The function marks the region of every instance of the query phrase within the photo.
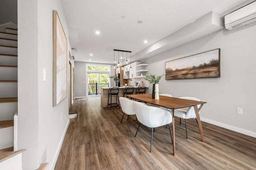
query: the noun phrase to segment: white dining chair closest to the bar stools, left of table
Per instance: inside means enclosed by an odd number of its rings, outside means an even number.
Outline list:
[[[131,121],[131,115],[135,115],[135,111],[134,111],[134,102],[136,102],[135,100],[130,100],[129,98],[124,98],[124,97],[120,97],[120,105],[121,105],[121,109],[124,112],[124,114],[127,114],[129,116],[129,123],[128,123],[128,129],[127,131],[129,131],[129,127],[130,127],[130,121]],[[124,118],[124,114],[123,117],[121,119],[122,120]]]

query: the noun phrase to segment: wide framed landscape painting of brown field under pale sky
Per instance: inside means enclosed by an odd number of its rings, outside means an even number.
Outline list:
[[[220,49],[168,61],[165,79],[220,77]]]

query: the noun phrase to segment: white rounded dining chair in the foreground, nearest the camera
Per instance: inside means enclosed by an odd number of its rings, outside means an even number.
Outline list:
[[[172,123],[172,115],[169,111],[158,107],[148,106],[147,104],[136,102],[134,103],[134,110],[140,124],[151,128],[151,141],[150,141],[150,152],[152,151],[152,140],[153,140],[153,129],[163,125],[168,125],[172,140],[172,132],[170,129],[170,123]],[[135,137],[140,128],[140,124],[136,131]]]

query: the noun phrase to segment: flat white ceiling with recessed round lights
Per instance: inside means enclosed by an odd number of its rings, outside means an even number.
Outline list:
[[[111,64],[113,49],[132,51],[135,55],[210,11],[221,14],[244,1],[62,0],[76,61]],[[95,34],[96,30],[100,35]],[[117,61],[118,53],[115,54]],[[140,59],[136,57],[132,61]]]

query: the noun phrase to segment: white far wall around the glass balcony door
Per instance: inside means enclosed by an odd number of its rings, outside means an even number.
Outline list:
[[[104,63],[86,63],[86,62],[75,62],[75,77],[74,77],[74,81],[75,81],[75,98],[84,98],[86,97],[86,93],[88,93],[86,91],[86,83],[87,82],[87,78],[86,78],[86,64],[104,64]],[[110,64],[106,64],[106,65],[110,65]],[[110,67],[110,74],[112,76],[115,75],[115,70],[112,68],[112,65]],[[112,81],[110,83],[113,83]],[[112,86],[112,84],[110,85]]]

